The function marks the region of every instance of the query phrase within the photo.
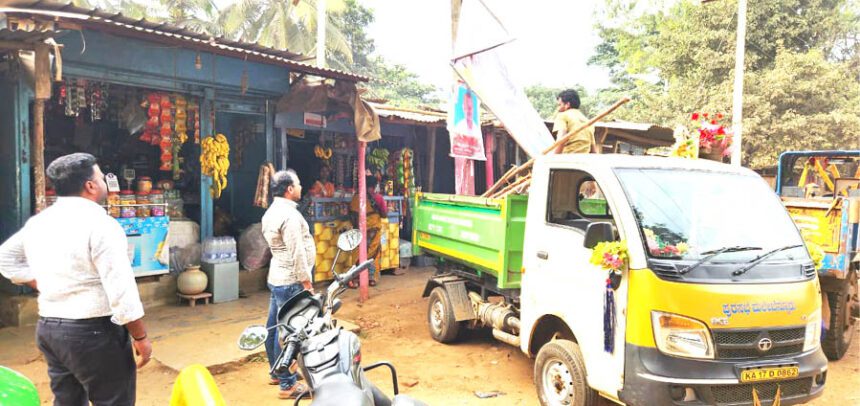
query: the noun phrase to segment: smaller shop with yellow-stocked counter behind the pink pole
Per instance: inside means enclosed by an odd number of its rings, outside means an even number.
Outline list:
[[[358,259],[356,252],[336,258],[340,233],[358,228],[359,154],[352,121],[336,116],[332,120],[316,113],[284,113],[277,121],[285,134],[288,166],[305,185],[300,209],[313,228],[317,244],[314,280],[331,280],[335,260],[334,269],[340,273]],[[381,211],[373,197],[378,194],[386,213],[368,215],[367,238],[368,255],[375,259],[376,269],[388,271],[408,265],[401,261],[400,238],[409,232],[409,198],[418,190],[416,176],[421,175],[416,169],[421,158],[415,148],[423,147],[425,131],[388,122],[381,116],[380,122],[382,138],[366,145],[366,176],[377,184],[367,201],[372,211]]]

